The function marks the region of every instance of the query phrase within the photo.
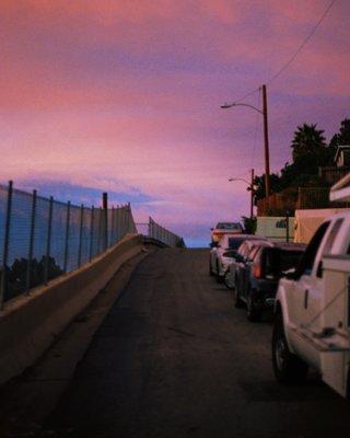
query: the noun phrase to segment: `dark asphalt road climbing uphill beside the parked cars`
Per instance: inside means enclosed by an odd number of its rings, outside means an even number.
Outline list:
[[[208,251],[141,262],[45,428],[60,437],[332,437],[350,404],[317,379],[281,387],[271,322],[249,323]]]

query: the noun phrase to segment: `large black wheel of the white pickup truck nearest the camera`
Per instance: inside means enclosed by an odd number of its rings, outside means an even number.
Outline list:
[[[290,351],[281,315],[277,318],[273,326],[272,366],[275,377],[280,383],[300,383],[306,379],[308,367],[303,360]]]

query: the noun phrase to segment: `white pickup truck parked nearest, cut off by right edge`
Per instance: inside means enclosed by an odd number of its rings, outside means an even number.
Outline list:
[[[278,381],[304,379],[308,367],[350,397],[350,211],[315,232],[301,263],[279,283],[272,365]]]

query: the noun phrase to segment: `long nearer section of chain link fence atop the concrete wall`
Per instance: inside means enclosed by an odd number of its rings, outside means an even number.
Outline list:
[[[0,185],[0,309],[136,232],[129,204],[88,208]]]

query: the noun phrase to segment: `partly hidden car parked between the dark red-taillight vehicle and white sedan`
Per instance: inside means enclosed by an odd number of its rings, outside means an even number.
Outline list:
[[[241,299],[236,296],[237,291],[237,281],[238,281],[238,272],[245,270],[246,265],[252,264],[253,255],[257,249],[257,245],[266,244],[272,245],[267,239],[250,235],[248,239],[245,239],[237,249],[236,256],[232,261],[229,266],[229,269],[224,274],[224,283],[230,289],[234,289],[235,295],[235,306],[241,307]]]

